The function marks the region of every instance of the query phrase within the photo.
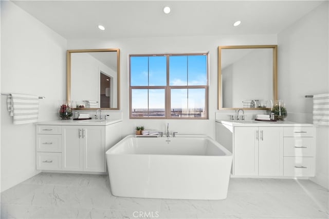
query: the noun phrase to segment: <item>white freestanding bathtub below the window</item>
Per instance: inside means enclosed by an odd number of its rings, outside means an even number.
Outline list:
[[[106,161],[115,196],[227,197],[232,154],[208,136],[129,135],[106,152]]]

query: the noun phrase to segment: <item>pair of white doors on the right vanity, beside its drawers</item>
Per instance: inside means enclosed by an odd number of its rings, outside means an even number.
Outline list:
[[[233,174],[283,174],[282,127],[234,127]]]

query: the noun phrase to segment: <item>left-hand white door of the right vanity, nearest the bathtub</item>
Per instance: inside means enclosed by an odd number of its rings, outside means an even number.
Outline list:
[[[234,127],[234,175],[258,175],[258,127]]]

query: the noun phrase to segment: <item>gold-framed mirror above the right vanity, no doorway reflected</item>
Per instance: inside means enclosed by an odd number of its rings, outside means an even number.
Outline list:
[[[218,109],[268,110],[278,99],[278,46],[218,46]]]

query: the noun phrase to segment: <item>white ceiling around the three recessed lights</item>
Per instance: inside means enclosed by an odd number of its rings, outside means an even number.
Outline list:
[[[276,34],[324,1],[13,1],[68,40]],[[171,13],[162,9],[171,7]],[[233,27],[241,20],[242,24]],[[97,26],[105,26],[101,31]]]

